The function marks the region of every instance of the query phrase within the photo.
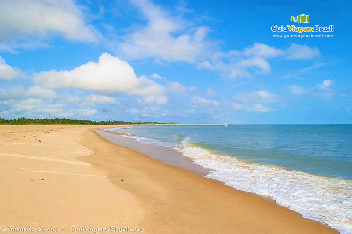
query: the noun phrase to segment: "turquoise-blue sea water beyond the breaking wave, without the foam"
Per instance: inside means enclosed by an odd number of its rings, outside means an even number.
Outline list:
[[[239,159],[352,179],[352,125],[136,126],[124,132],[166,146],[189,137],[197,146]]]

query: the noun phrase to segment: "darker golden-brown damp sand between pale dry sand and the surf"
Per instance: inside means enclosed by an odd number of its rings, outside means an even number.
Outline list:
[[[87,132],[86,139],[96,135]],[[104,152],[100,154],[103,157],[81,159],[106,171],[112,183],[137,198],[146,210],[140,225],[150,233],[338,233],[273,201],[165,165],[170,162],[167,158],[163,163],[116,145],[131,146],[131,139],[119,136],[114,138],[114,144],[99,137],[89,146]],[[138,145],[137,150],[150,153],[141,147]]]

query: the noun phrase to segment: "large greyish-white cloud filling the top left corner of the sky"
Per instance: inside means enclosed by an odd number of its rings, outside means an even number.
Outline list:
[[[49,35],[88,42],[100,37],[72,0],[2,1],[0,22],[0,48],[10,52],[12,47],[40,46],[38,39]]]

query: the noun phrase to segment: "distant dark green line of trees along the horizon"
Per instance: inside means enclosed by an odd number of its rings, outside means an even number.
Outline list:
[[[149,122],[149,121],[94,121],[81,119],[2,119],[0,118],[0,125],[25,125],[25,124],[82,124],[82,125],[132,125],[132,124],[177,124],[177,122]]]

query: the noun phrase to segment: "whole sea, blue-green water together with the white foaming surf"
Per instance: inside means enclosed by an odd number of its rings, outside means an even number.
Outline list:
[[[227,186],[270,196],[352,233],[352,125],[150,125],[114,128],[172,148]]]

